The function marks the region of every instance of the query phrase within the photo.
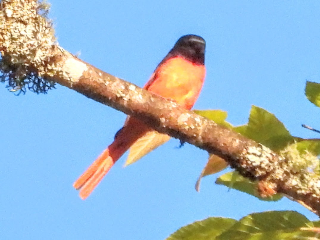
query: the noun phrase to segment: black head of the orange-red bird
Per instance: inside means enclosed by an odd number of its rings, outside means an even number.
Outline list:
[[[185,35],[179,38],[169,54],[181,56],[193,63],[204,65],[205,41],[197,35]],[[168,54],[168,55],[169,55]]]

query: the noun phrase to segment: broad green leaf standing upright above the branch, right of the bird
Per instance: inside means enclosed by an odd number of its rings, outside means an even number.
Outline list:
[[[293,142],[293,137],[275,115],[263,108],[252,106],[245,135],[274,151]]]

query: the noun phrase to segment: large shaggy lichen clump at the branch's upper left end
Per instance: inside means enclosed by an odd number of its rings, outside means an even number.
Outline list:
[[[54,82],[43,78],[57,47],[49,5],[38,1],[2,0],[0,4],[0,81],[10,91],[46,93]]]

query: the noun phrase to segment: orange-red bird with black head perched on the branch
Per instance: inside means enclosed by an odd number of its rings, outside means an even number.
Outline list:
[[[201,36],[181,36],[158,64],[144,89],[165,99],[173,100],[186,109],[195,104],[204,84],[206,42]],[[152,139],[150,141],[150,139]],[[130,162],[137,161],[170,137],[153,130],[136,117],[128,116],[114,141],[74,182],[81,199],[86,199],[116,161],[130,148]],[[148,141],[149,140],[149,141]],[[143,144],[147,141],[147,144]],[[141,144],[142,143],[142,144]],[[137,151],[132,149],[139,148]]]

